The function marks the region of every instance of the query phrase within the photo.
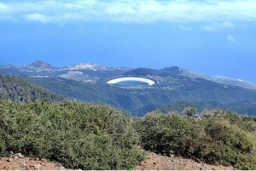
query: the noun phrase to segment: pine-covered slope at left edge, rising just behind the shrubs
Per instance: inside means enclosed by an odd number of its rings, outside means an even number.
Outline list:
[[[0,74],[0,98],[21,102],[47,100],[50,102],[64,100],[60,95],[53,94],[44,88],[30,83],[20,77],[3,76]]]

